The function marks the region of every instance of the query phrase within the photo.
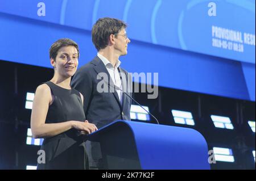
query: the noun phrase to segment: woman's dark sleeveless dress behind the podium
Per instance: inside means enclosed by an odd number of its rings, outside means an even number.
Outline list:
[[[54,96],[53,103],[48,109],[46,123],[85,121],[79,91],[73,88],[64,89],[50,81],[46,84]],[[85,143],[79,135],[80,132],[72,128],[56,136],[44,138],[41,150],[44,150],[46,159],[43,163],[43,154],[39,155],[38,169],[88,169]]]

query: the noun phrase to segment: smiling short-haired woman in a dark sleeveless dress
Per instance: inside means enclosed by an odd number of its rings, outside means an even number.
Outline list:
[[[78,65],[78,45],[70,39],[57,40],[49,55],[54,75],[36,89],[31,113],[33,137],[44,138],[41,150],[46,157],[45,162],[38,162],[38,169],[87,169],[85,144],[79,134],[97,128],[85,120],[84,98],[70,86]]]

